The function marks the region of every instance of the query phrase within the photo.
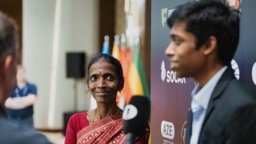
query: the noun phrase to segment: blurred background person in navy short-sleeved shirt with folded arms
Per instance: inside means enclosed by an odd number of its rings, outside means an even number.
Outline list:
[[[36,85],[28,83],[26,70],[18,65],[17,84],[13,89],[11,97],[5,101],[11,121],[20,127],[30,127],[34,129],[33,104],[36,102]]]

